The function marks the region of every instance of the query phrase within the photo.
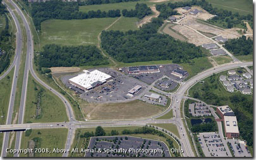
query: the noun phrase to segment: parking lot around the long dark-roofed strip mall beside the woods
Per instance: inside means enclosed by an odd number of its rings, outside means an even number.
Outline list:
[[[145,73],[145,74],[143,74],[143,73],[142,74],[128,74],[128,71],[127,71],[128,67],[123,67],[121,69],[125,74],[129,75],[130,77],[138,79],[147,84],[154,83],[154,81],[156,81],[157,79],[161,78],[164,75],[170,77],[171,79],[174,79],[175,81],[182,81],[183,79],[185,79],[185,77],[180,78],[180,77],[177,77],[177,76],[174,76],[173,74],[171,74],[171,71],[173,71],[174,69],[176,69],[178,67],[181,67],[178,64],[157,65],[157,67],[160,72]]]

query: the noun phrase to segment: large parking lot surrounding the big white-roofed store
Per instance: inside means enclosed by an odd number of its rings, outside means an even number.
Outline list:
[[[147,84],[138,81],[137,79],[126,76],[125,74],[121,74],[118,71],[114,71],[113,69],[101,68],[98,70],[109,74],[110,76],[112,76],[112,79],[111,81],[103,84],[102,86],[99,86],[90,91],[82,91],[81,89],[76,88],[75,86],[72,86],[70,83],[68,83],[68,79],[76,76],[77,74],[72,76],[63,76],[61,77],[61,81],[63,81],[63,83],[68,86],[68,88],[81,93],[80,98],[83,98],[88,102],[96,103],[122,101],[131,98],[134,99],[135,97],[138,97],[145,88],[147,88]],[[136,85],[142,86],[142,89],[140,89],[140,91],[138,91],[138,93],[134,94],[133,96],[128,96],[128,91]]]

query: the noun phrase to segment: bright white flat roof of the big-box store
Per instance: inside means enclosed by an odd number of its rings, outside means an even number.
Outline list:
[[[111,77],[108,74],[98,70],[94,70],[92,72],[83,70],[83,72],[84,73],[79,74],[78,76],[75,76],[69,80],[73,83],[82,86],[83,88],[90,89],[94,87],[92,86],[92,84],[97,83],[98,81],[104,83],[106,82],[106,79],[109,79]]]

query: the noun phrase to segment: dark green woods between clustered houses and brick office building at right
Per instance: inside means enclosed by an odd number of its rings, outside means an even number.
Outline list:
[[[195,86],[194,86],[195,87]],[[192,88],[193,89],[193,88]],[[229,105],[235,112],[241,137],[247,140],[248,146],[253,146],[253,96],[238,93],[223,92],[219,76],[205,79],[205,83],[192,90],[193,98],[205,101],[210,105]]]

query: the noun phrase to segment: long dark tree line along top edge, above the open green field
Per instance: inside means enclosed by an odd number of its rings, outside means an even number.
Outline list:
[[[113,1],[114,2],[114,1]],[[120,1],[121,2],[121,1]],[[45,20],[83,20],[88,18],[113,18],[121,16],[119,9],[111,9],[109,11],[88,11],[87,13],[79,11],[79,6],[85,2],[63,2],[61,0],[46,1],[45,3],[32,3],[31,14],[34,21],[35,28],[40,30],[40,23]],[[123,11],[124,16],[143,18],[151,13],[151,9],[147,4],[136,5],[135,10]]]

